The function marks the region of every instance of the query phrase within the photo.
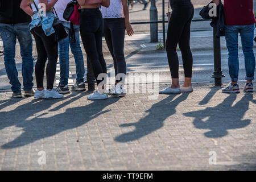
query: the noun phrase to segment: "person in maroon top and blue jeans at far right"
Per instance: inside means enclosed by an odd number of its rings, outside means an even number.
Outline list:
[[[220,0],[214,0],[218,5]],[[239,93],[238,72],[238,34],[241,36],[243,55],[245,56],[246,84],[245,92],[253,92],[253,80],[255,71],[255,56],[253,52],[255,16],[253,12],[253,0],[224,0],[225,11],[225,38],[228,47],[229,75],[231,82],[222,89],[225,93]]]

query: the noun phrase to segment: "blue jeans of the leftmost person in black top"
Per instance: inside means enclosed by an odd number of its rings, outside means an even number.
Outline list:
[[[18,71],[15,64],[16,39],[20,44],[22,56],[22,76],[24,90],[33,87],[34,57],[32,56],[32,36],[28,23],[4,24],[0,23],[0,34],[3,39],[3,54],[5,55],[5,69],[10,80],[11,90],[20,92],[21,84],[18,80]]]

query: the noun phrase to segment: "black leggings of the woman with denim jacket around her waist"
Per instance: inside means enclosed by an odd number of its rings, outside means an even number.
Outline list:
[[[52,89],[58,59],[58,43],[55,41],[55,34],[46,36],[42,27],[33,28],[31,33],[34,35],[36,50],[38,51],[38,60],[35,65],[36,86],[37,88],[44,87],[44,68],[48,59],[46,67],[47,89]]]

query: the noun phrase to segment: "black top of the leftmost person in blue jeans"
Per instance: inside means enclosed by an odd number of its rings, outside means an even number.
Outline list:
[[[16,24],[31,22],[31,17],[20,9],[22,0],[0,0],[0,23]]]

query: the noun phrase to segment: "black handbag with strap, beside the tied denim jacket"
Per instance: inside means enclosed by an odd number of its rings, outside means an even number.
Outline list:
[[[34,3],[34,6],[36,8],[36,11],[39,12],[38,6],[36,6],[36,3],[34,1],[33,1],[33,3]],[[55,11],[55,9],[54,9],[54,11]],[[56,11],[55,11],[55,14],[56,14],[57,19],[59,19]],[[40,16],[40,18],[41,18],[41,20],[43,20],[42,16]],[[52,28],[55,31],[55,41],[56,42],[60,42],[61,40],[67,38],[68,34],[67,34],[67,32],[66,32],[66,30],[65,30],[65,28],[64,28],[62,23],[58,23],[58,24],[52,25]]]

